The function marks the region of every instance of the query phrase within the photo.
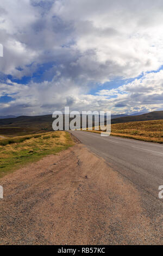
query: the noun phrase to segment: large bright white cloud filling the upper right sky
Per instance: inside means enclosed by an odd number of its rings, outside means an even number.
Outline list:
[[[74,22],[74,47],[83,53],[76,63],[91,78],[96,71],[96,80],[104,82],[162,65],[162,10],[160,1],[70,0],[55,1],[53,14]]]

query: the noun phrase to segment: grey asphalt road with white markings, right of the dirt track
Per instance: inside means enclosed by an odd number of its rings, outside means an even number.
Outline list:
[[[116,172],[140,191],[150,213],[162,213],[163,145],[120,137],[102,137],[98,133],[71,131],[93,153],[103,157]]]

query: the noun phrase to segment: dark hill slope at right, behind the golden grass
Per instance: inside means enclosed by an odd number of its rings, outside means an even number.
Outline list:
[[[128,123],[135,121],[149,121],[149,120],[161,120],[163,119],[163,111],[154,111],[141,115],[128,115],[127,117],[114,118],[111,123]]]

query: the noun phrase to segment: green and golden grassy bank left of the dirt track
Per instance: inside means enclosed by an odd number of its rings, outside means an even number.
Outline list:
[[[73,144],[70,134],[64,131],[1,139],[0,178],[28,162],[56,154]]]

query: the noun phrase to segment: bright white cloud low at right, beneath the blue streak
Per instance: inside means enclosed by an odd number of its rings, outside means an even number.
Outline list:
[[[163,109],[163,70],[146,74],[117,89],[100,90],[97,95],[107,99],[110,95],[116,96],[110,101],[111,108],[128,113]]]

